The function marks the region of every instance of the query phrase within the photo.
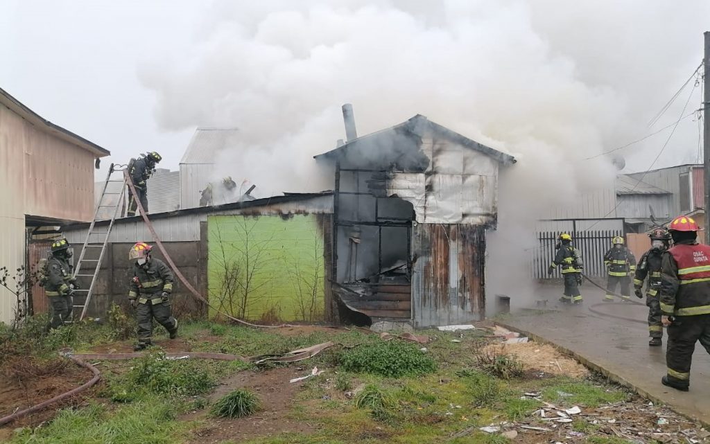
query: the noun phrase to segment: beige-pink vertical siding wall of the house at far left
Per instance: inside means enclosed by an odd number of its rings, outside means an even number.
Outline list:
[[[0,267],[13,275],[25,265],[25,215],[91,220],[93,168],[91,152],[0,105]],[[15,296],[0,287],[0,322],[11,321],[15,308]]]

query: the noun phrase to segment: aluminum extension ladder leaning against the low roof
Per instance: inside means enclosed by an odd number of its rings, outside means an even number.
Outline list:
[[[111,175],[114,173],[121,173],[121,179],[112,179]],[[109,167],[109,174],[107,174],[106,177],[106,182],[104,182],[104,189],[102,190],[101,197],[97,203],[96,211],[94,211],[94,220],[89,226],[87,237],[84,240],[84,245],[82,245],[82,252],[79,255],[79,259],[74,267],[74,277],[82,283],[80,289],[74,290],[74,311],[81,309],[79,321],[86,316],[87,309],[89,308],[89,302],[91,301],[92,294],[94,294],[94,287],[96,286],[97,278],[99,276],[99,270],[101,270],[101,263],[102,260],[104,260],[106,248],[109,243],[111,228],[114,228],[114,221],[116,221],[116,218],[119,217],[119,213],[122,213],[121,210],[125,207],[124,203],[126,203],[127,177],[128,175],[124,174],[124,170],[117,170],[114,168],[114,164],[111,164]],[[121,190],[119,192],[109,191],[109,189],[115,190],[115,187],[109,187],[109,184],[114,183],[121,184]],[[114,198],[115,202],[109,199],[111,196],[116,196]],[[102,216],[104,215],[103,209],[112,209],[112,211],[109,210],[110,217]],[[121,214],[121,216],[124,216],[124,214]],[[109,221],[109,223],[108,225],[102,223],[97,229],[96,223],[102,221]],[[99,248],[101,250],[98,251],[97,255],[96,250]],[[89,284],[87,284],[87,282],[89,282]],[[78,304],[77,299],[80,301]],[[72,316],[72,319],[75,319],[75,316]]]

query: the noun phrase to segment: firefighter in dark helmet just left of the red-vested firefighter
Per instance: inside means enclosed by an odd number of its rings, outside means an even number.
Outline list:
[[[670,248],[670,234],[664,228],[654,228],[648,235],[651,238],[651,249],[643,253],[638,261],[633,279],[634,294],[643,298],[643,281],[648,277],[646,285],[646,306],[648,306],[648,335],[651,340],[648,345],[657,347],[662,344],[663,325],[661,323],[660,295],[661,257]]]

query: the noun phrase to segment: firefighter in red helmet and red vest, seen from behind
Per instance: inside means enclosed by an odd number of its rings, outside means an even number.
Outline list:
[[[661,322],[668,328],[667,375],[663,385],[690,386],[695,343],[710,353],[710,246],[697,243],[698,224],[678,216],[668,226],[673,247],[661,260]]]

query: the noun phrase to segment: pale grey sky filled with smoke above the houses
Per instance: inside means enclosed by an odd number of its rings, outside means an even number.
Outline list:
[[[4,0],[0,86],[105,163],[157,150],[175,170],[195,127],[237,126],[219,174],[275,192],[312,177],[346,101],[361,134],[422,113],[559,170],[679,116],[689,89],[646,126],[700,62],[709,17],[701,0]],[[654,167],[695,160],[692,120]],[[629,170],[668,134],[623,150]]]

